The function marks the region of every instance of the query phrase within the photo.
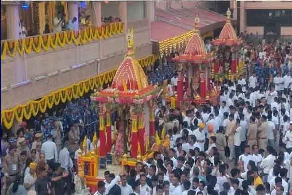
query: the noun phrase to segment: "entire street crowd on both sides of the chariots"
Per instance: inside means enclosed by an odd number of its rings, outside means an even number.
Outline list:
[[[245,45],[247,77],[222,83],[217,105],[171,108],[156,99],[155,125],[170,148],[155,146],[154,156],[105,171],[94,195],[288,195],[292,189],[291,43]],[[173,64],[147,74],[149,83],[169,80]],[[167,86],[168,87],[168,86]],[[87,147],[98,129],[92,102],[80,99],[66,109],[39,116],[28,129],[1,137],[2,193],[70,195],[80,140]],[[91,124],[92,123],[92,124]],[[91,124],[91,125],[85,125]],[[164,132],[164,133],[163,133]],[[152,140],[152,137],[151,137]]]

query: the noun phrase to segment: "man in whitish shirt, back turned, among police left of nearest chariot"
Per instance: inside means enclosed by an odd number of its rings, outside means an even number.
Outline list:
[[[54,164],[55,162],[58,162],[57,147],[52,139],[52,134],[49,134],[47,136],[47,141],[44,142],[41,146],[41,151],[43,151],[46,156],[47,164]]]

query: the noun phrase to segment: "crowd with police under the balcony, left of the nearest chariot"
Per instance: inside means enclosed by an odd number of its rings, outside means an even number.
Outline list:
[[[96,106],[89,98],[80,98],[54,111],[52,116],[45,113],[28,123],[22,122],[16,135],[2,131],[2,194],[72,192],[76,151],[85,135],[88,141],[92,140],[96,129]]]

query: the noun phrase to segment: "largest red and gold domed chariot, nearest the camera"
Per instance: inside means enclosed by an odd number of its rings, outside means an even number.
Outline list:
[[[95,134],[94,150],[83,149],[84,141],[78,156],[78,174],[86,178],[89,186],[97,186],[98,169],[105,170],[107,164],[112,164],[112,157],[115,164],[135,166],[137,161],[153,158],[154,151],[162,146],[169,147],[169,138],[164,135],[160,140],[154,126],[153,100],[162,91],[161,87],[148,84],[135,58],[133,29],[130,29],[127,54],[111,86],[91,96],[99,104],[99,146]]]

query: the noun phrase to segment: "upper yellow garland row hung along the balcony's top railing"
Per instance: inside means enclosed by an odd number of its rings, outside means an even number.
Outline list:
[[[80,32],[64,31],[55,34],[28,37],[20,40],[9,40],[2,42],[1,60],[6,54],[15,57],[16,52],[23,55],[23,52],[30,54],[32,51],[39,53],[42,49],[49,51],[74,43],[75,45],[85,44],[94,40],[108,39],[114,35],[124,32],[123,23],[111,23],[105,27],[89,27]]]

